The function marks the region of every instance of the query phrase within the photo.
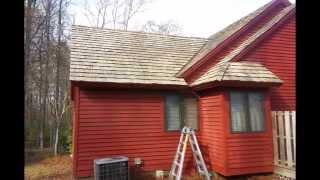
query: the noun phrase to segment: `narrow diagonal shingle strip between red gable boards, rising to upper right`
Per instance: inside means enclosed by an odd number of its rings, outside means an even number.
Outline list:
[[[250,35],[245,41],[238,45],[233,51],[228,53],[220,62],[215,66],[210,68],[206,73],[201,75],[197,80],[192,83],[192,86],[199,85],[202,83],[207,83],[210,81],[217,80],[216,77],[219,77],[219,73],[223,72],[221,69],[228,67],[228,62],[230,62],[235,56],[240,54],[246,47],[251,45],[255,40],[257,40],[263,33],[267,32],[272,28],[276,23],[278,23],[283,17],[285,17],[292,9],[295,8],[295,5],[290,5],[283,10],[281,10],[276,16],[274,16],[269,22],[262,26],[257,32]]]

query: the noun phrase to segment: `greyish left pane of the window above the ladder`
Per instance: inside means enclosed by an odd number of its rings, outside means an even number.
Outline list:
[[[180,117],[180,98],[175,95],[166,96],[166,121],[167,130],[180,130],[181,117]]]

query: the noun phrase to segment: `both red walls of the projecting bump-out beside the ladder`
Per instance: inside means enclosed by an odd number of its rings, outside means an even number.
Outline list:
[[[229,89],[207,90],[200,97],[200,148],[208,169],[224,176],[273,171],[270,97],[265,96],[266,131],[231,133]]]

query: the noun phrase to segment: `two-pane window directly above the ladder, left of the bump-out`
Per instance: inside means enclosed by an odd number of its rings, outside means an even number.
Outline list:
[[[168,131],[181,130],[183,126],[198,128],[196,98],[183,99],[179,95],[165,96],[165,125]]]

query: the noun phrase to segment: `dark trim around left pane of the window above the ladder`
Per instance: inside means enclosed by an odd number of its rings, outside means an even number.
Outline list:
[[[177,130],[169,130],[168,129],[168,115],[167,115],[167,111],[166,111],[166,101],[167,101],[167,96],[177,96],[178,99],[179,99],[179,108],[180,108],[180,129],[177,129]],[[179,94],[179,93],[167,93],[163,96],[163,111],[164,111],[164,130],[166,132],[177,132],[177,131],[181,131],[181,129],[183,128],[184,126],[184,121],[183,121],[183,97]]]

